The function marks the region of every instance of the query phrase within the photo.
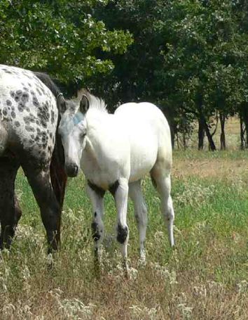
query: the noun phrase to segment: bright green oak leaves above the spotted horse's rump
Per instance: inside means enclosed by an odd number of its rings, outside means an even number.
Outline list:
[[[123,53],[129,32],[106,30],[93,17],[107,1],[8,1],[0,4],[0,61],[32,70],[46,70],[60,81],[83,82],[109,72],[111,60],[97,51]]]

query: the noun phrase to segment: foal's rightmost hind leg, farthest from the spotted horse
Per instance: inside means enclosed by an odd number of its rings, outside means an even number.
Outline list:
[[[157,188],[161,200],[161,211],[167,225],[170,245],[174,246],[173,224],[174,224],[174,208],[172,197],[170,196],[170,173],[165,174],[161,165],[155,165],[151,170],[151,179]]]

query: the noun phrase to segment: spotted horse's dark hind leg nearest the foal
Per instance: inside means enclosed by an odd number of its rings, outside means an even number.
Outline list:
[[[41,169],[32,163],[34,162],[22,163],[22,168],[41,210],[41,219],[48,238],[48,253],[50,253],[57,250],[60,245],[61,210],[50,182],[49,167]]]

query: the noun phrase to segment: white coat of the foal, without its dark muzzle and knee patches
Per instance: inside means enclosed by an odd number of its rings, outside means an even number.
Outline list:
[[[161,210],[167,222],[170,243],[174,245],[174,210],[170,197],[170,127],[163,113],[152,103],[125,103],[110,115],[106,112],[103,101],[91,95],[89,99],[89,110],[81,122],[74,124],[72,129],[69,129],[69,121],[72,122],[75,114],[69,114],[69,110],[62,114],[60,133],[64,145],[65,165],[80,163],[86,179],[104,190],[108,190],[118,181],[115,193],[117,223],[127,230],[129,191],[135,203],[140,255],[144,259],[147,210],[140,181],[149,172],[160,193]],[[82,133],[86,135],[81,136]],[[93,223],[97,225],[99,233],[99,239],[95,241],[98,248],[104,236],[103,199],[90,186],[87,187],[87,193],[92,202]],[[127,257],[127,243],[128,235],[122,246],[124,258]]]

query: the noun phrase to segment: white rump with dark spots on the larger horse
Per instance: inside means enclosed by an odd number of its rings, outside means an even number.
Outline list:
[[[7,132],[6,148],[50,159],[56,125],[57,105],[48,87],[29,70],[0,65],[0,130]]]

